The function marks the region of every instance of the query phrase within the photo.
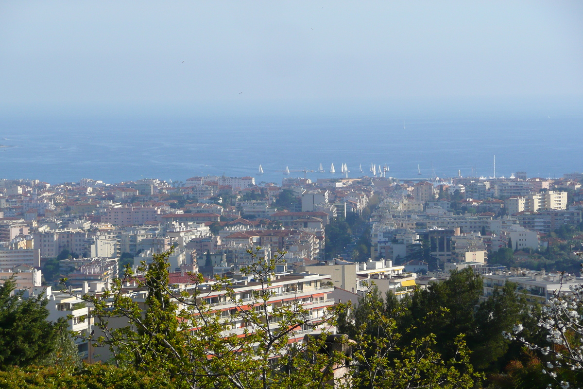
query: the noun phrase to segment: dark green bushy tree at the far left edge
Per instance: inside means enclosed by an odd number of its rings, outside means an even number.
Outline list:
[[[66,328],[64,319],[47,321],[47,299],[23,299],[15,288],[13,278],[0,286],[0,370],[41,363],[55,351]]]

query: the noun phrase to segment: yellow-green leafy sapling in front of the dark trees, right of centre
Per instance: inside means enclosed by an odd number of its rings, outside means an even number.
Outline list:
[[[482,379],[469,362],[463,335],[447,360],[436,351],[433,334],[403,342],[399,320],[406,307],[390,294],[385,303],[373,287],[353,314],[339,309],[339,330],[352,334],[354,342],[350,388],[473,388]]]

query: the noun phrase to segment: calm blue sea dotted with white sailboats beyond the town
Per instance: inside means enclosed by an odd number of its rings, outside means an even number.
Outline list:
[[[349,177],[370,176],[371,164],[387,164],[387,177],[401,180],[479,177],[493,176],[494,156],[498,177],[561,177],[583,171],[583,115],[37,115],[1,117],[0,145],[0,178],[51,184],[208,174],[280,184],[284,177],[343,177],[343,163]],[[320,164],[325,173],[317,172]]]

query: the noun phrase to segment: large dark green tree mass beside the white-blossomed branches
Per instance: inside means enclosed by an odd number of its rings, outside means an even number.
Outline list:
[[[364,328],[371,344],[390,349],[387,358],[392,359],[387,364],[392,370],[403,369],[403,350],[410,350],[411,345],[419,347],[422,342],[424,355],[433,353],[442,363],[459,366],[459,372],[469,374],[466,378],[477,372],[485,374],[485,384],[491,388],[526,388],[521,380],[528,377],[525,372],[538,357],[526,353],[517,339],[503,334],[522,322],[523,336],[543,344],[545,329],[532,318],[532,312],[539,309],[528,306],[513,283],[494,290],[484,301],[480,301],[482,288],[482,277],[471,269],[454,272],[447,281],[417,290],[401,301],[392,293],[382,296],[371,286],[356,309],[340,315],[339,330],[357,339]],[[385,330],[387,324],[372,320],[374,317],[390,323],[390,331]],[[370,367],[360,362],[360,369],[368,371]]]

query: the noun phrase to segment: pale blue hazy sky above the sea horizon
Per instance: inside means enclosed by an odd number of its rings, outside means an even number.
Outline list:
[[[2,1],[0,91],[25,111],[568,100],[583,2]]]

